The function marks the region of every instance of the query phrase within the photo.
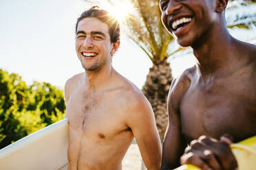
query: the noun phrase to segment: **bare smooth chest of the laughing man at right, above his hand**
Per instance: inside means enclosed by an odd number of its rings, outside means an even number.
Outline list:
[[[180,104],[182,133],[187,141],[200,135],[235,141],[256,134],[256,93],[253,81],[221,80],[207,86],[193,82]]]

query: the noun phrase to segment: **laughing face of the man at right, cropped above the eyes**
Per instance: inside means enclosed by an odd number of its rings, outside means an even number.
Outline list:
[[[193,45],[211,28],[216,0],[160,0],[162,23],[183,47]]]

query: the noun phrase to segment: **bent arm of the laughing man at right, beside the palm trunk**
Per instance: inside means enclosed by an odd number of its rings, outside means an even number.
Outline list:
[[[184,77],[180,77],[178,80],[173,80],[169,90],[167,101],[169,121],[162,147],[161,169],[178,167],[180,165],[180,156],[182,156],[186,147],[186,141],[182,137],[179,105],[180,99],[188,86],[189,82]]]

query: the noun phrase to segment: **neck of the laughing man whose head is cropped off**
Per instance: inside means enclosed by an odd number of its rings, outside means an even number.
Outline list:
[[[224,25],[216,25],[201,39],[192,48],[202,77],[222,74],[237,61],[233,57],[236,40]]]

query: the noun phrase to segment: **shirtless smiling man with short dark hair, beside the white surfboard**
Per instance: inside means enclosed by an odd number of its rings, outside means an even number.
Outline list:
[[[111,65],[120,28],[93,7],[76,23],[76,53],[84,73],[65,84],[69,123],[68,169],[122,169],[136,138],[147,169],[160,169],[161,148],[149,101]]]

